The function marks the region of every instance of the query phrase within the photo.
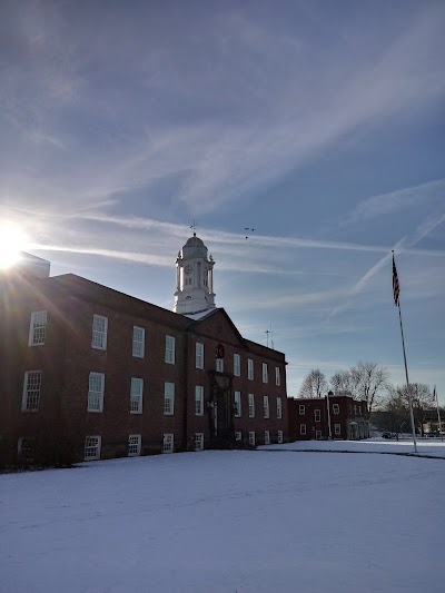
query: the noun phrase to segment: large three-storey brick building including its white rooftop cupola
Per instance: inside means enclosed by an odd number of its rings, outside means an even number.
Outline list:
[[[214,260],[196,235],[176,261],[178,313],[73,274],[49,277],[37,259],[0,277],[3,458],[287,441],[285,355],[215,307]]]

